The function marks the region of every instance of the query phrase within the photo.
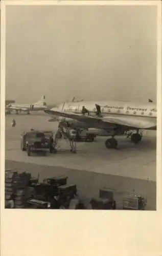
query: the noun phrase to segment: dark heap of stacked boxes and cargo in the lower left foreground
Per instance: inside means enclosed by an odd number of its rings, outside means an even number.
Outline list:
[[[5,172],[5,183],[6,208],[49,208],[49,202],[50,207],[55,208],[55,201],[58,201],[64,208],[70,206],[73,209],[79,204],[79,200],[75,198],[77,185],[68,185],[67,176],[56,176],[38,183],[38,179],[32,178],[29,173],[10,170]],[[74,200],[71,202],[72,199]]]

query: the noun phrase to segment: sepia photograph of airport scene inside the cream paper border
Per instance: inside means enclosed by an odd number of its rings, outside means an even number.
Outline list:
[[[6,6],[5,208],[156,210],[157,6]]]

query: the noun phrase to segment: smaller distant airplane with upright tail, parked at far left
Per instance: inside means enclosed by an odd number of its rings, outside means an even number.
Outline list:
[[[45,96],[43,95],[41,99],[33,104],[23,104],[23,103],[9,103],[6,106],[7,112],[16,111],[16,114],[21,113],[21,111],[30,114],[30,111],[40,111],[47,108],[47,103],[45,102]]]

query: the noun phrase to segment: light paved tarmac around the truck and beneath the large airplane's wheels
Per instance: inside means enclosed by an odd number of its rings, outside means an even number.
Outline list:
[[[15,118],[17,125],[11,126]],[[44,113],[6,116],[6,168],[26,170],[36,177],[67,175],[68,182],[77,184],[82,198],[99,194],[99,189],[114,192],[119,205],[127,194],[141,194],[147,198],[147,210],[156,209],[156,132],[144,132],[142,141],[134,145],[125,136],[117,136],[119,150],[107,150],[107,137],[97,137],[94,142],[77,143],[77,154],[61,141],[63,151],[47,156],[27,156],[20,150],[20,135],[31,128],[57,130],[57,122],[48,122]],[[120,207],[119,207],[120,208]]]

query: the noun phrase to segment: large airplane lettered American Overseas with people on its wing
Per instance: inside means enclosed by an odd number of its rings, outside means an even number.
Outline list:
[[[119,132],[129,132],[128,137],[134,144],[142,140],[140,130],[156,130],[156,105],[152,102],[139,104],[127,101],[72,101],[64,102],[56,108],[46,109],[53,121],[56,116],[70,127],[84,129],[96,128],[112,131],[107,139],[107,148],[117,148],[118,141],[114,138]],[[133,130],[136,131],[133,133]]]

